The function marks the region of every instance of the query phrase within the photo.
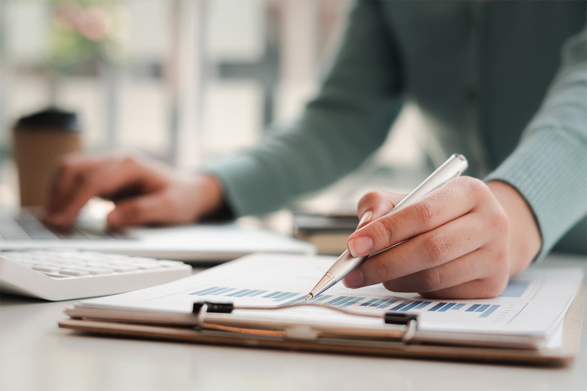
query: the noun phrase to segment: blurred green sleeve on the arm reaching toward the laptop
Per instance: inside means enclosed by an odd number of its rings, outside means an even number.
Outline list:
[[[358,1],[342,45],[301,118],[254,148],[210,162],[235,216],[270,212],[348,174],[399,113],[396,48],[375,1]]]

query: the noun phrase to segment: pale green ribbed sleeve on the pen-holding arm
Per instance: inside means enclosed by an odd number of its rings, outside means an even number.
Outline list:
[[[587,30],[566,40],[561,66],[518,147],[485,181],[513,186],[534,213],[541,259],[587,212]]]

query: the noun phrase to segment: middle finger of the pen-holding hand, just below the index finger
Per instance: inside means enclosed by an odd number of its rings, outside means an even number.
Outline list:
[[[479,249],[492,236],[494,233],[486,229],[483,216],[469,213],[367,258],[354,275],[349,274],[345,285],[358,288],[437,267]]]

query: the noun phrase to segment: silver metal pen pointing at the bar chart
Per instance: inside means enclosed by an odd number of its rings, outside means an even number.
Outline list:
[[[458,175],[463,174],[463,171],[467,169],[468,163],[467,158],[461,154],[453,154],[446,162],[436,169],[430,176],[424,179],[424,182],[420,183],[416,189],[411,191],[404,199],[402,199],[392,210],[402,209],[404,206],[410,205],[434,189],[439,188],[448,182],[450,179],[455,178]],[[399,243],[398,243],[399,244]],[[392,246],[393,247],[393,246]],[[391,247],[389,247],[391,248]],[[386,249],[387,250],[387,249]],[[384,250],[383,250],[384,251]],[[381,251],[380,251],[381,252]],[[349,250],[345,250],[344,253],[330,266],[330,268],[324,273],[324,276],[318,281],[318,284],[312,288],[306,300],[309,300],[323,291],[332,287],[340,280],[345,278],[353,269],[361,264],[367,257],[353,257],[350,255]]]

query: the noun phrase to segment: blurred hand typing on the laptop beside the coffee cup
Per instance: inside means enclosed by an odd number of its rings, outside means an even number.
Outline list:
[[[114,228],[194,222],[224,202],[217,179],[180,175],[146,158],[122,155],[68,155],[59,162],[45,208],[45,221],[69,226],[92,197],[112,199],[107,217]]]

